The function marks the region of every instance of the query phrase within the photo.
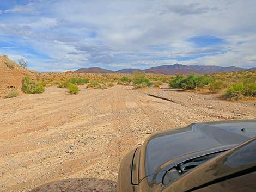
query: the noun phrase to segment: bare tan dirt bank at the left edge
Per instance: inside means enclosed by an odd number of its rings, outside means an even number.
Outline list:
[[[21,80],[26,75],[33,77],[32,72],[7,57],[0,56],[0,97],[5,96],[12,88],[21,92]]]

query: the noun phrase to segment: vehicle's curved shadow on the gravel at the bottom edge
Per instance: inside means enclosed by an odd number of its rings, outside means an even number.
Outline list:
[[[65,179],[41,185],[31,192],[114,192],[115,181],[96,178]]]

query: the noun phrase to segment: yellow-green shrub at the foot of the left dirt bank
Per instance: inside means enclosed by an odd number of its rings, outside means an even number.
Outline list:
[[[26,76],[22,79],[21,90],[27,94],[41,94],[45,88],[41,83],[33,82],[30,77]]]

